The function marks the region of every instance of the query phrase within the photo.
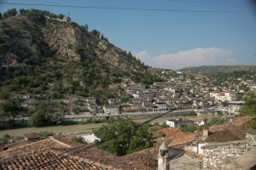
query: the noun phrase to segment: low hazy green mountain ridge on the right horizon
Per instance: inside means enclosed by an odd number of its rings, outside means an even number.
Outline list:
[[[190,74],[213,74],[218,72],[228,73],[233,71],[247,71],[256,65],[204,65],[198,67],[187,67],[179,71]]]

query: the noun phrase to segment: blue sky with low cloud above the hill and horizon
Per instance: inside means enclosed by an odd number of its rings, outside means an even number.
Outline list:
[[[87,8],[32,5],[39,3]],[[73,21],[101,31],[109,42],[145,64],[178,70],[256,65],[255,4],[255,0],[0,0],[0,12],[39,8],[70,14]]]

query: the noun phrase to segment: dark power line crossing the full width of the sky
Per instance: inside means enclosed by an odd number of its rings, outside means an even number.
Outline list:
[[[255,12],[255,10],[190,10],[190,9],[166,9],[166,8],[123,8],[123,7],[57,5],[57,4],[45,4],[45,3],[2,3],[1,2],[0,4],[58,7],[58,8],[96,8],[96,9],[116,9],[116,10],[154,11],[154,12],[183,12],[183,13],[247,13],[247,12]]]

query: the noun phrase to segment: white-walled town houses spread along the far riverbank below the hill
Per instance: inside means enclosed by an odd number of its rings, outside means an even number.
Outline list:
[[[97,105],[98,99],[94,96],[83,97],[74,94],[67,94],[64,99],[56,99],[53,102],[62,102],[67,105],[67,110],[64,112],[67,115],[83,115],[84,112],[90,112],[92,115],[111,115],[169,111],[174,108],[177,108],[177,110],[200,110],[221,105],[221,107],[218,107],[218,111],[224,111],[223,106],[229,106],[228,104],[230,106],[225,108],[226,111],[236,114],[232,107],[237,105],[237,95],[247,92],[239,87],[247,87],[252,91],[255,91],[256,87],[255,82],[253,82],[254,77],[252,79],[239,78],[236,82],[226,82],[224,85],[213,86],[205,78],[189,78],[188,75],[180,71],[177,71],[175,77],[166,77],[169,73],[173,75],[173,72],[161,71],[157,73],[160,77],[165,78],[166,82],[153,82],[149,86],[132,82],[131,79],[124,79],[119,84],[117,98],[106,99],[108,103],[105,105]],[[37,100],[40,100],[42,95],[44,96],[44,94],[19,94],[9,97],[9,99],[20,99],[20,106],[32,110],[35,109]],[[4,102],[4,99],[2,99],[2,102]],[[228,103],[223,105],[224,102]],[[242,102],[240,105],[242,105]]]

